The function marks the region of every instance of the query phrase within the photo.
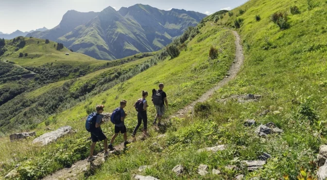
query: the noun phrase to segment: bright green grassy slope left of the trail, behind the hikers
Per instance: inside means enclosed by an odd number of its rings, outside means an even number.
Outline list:
[[[151,91],[157,87],[159,82],[164,82],[170,102],[167,115],[197,99],[224,77],[234,60],[235,54],[234,36],[229,30],[216,26],[206,26],[200,31],[201,33],[194,39],[190,38],[192,40],[186,42],[187,48],[184,45],[177,58],[165,58],[162,62],[156,61],[156,59],[160,59],[161,55],[151,58],[146,61],[149,65],[138,66],[141,71],[135,77],[128,80],[128,78],[123,77],[124,75],[121,75],[121,83],[112,88],[111,86],[104,86],[104,91],[100,91],[98,94],[90,93],[74,107],[50,117],[48,126],[41,123],[34,129],[37,131],[37,135],[41,135],[46,132],[45,127],[57,128],[65,124],[71,125],[77,130],[76,134],[68,135],[45,147],[31,145],[32,139],[19,143],[8,143],[8,137],[2,137],[0,147],[3,149],[3,153],[0,157],[3,157],[3,160],[6,157],[12,157],[12,152],[19,149],[15,155],[15,162],[6,164],[5,171],[9,171],[15,163],[20,162],[22,165],[18,171],[21,178],[40,178],[59,168],[70,166],[77,160],[86,158],[89,142],[85,139],[89,135],[85,131],[83,117],[87,115],[86,111],[89,108],[94,108],[96,104],[104,104],[106,106],[105,111],[111,112],[119,104],[120,99],[126,99],[129,102],[126,108],[129,113],[126,125],[129,133],[131,133],[136,120],[136,112],[132,103],[139,98],[141,90]],[[207,35],[206,32],[208,31],[214,33]],[[210,46],[220,49],[219,60],[208,60]],[[162,55],[165,54],[164,52],[165,50]],[[147,69],[146,67],[150,68]],[[74,89],[74,85],[70,87]],[[154,115],[154,112],[155,109],[151,106],[149,118]],[[108,135],[113,133],[111,124],[106,124],[103,130]],[[121,141],[121,137],[117,141]],[[96,151],[99,152],[102,149],[103,146],[97,146]]]

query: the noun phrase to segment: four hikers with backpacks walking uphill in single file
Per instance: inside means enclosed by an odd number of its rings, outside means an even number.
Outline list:
[[[167,101],[167,95],[163,91],[164,84],[159,84],[158,90],[152,90],[152,102],[155,105],[156,115],[155,120],[153,121],[153,124],[156,125],[156,121],[158,121],[158,126],[161,126],[161,119],[162,116],[165,113],[166,107],[168,108],[168,101]],[[147,132],[147,123],[148,123],[148,115],[147,115],[147,107],[149,107],[148,102],[146,98],[148,97],[149,93],[147,91],[142,91],[142,98],[138,99],[138,101],[134,104],[135,109],[138,112],[138,124],[135,127],[132,137],[135,137],[139,126],[142,123],[143,120],[143,132]],[[110,120],[115,125],[115,134],[112,136],[110,140],[110,144],[108,145],[108,138],[104,135],[101,125],[104,124],[103,120],[103,108],[104,105],[97,105],[96,106],[96,112],[90,114],[86,119],[86,130],[91,133],[91,140],[92,145],[90,148],[90,155],[87,159],[87,161],[93,161],[97,158],[97,156],[93,156],[93,151],[95,148],[95,145],[99,141],[103,141],[104,144],[104,156],[106,157],[108,155],[108,149],[114,150],[113,143],[115,141],[115,138],[119,135],[119,133],[123,134],[124,136],[124,146],[129,144],[127,141],[127,128],[125,126],[124,120],[127,116],[127,113],[125,113],[124,108],[127,105],[126,100],[120,101],[120,107],[117,107],[113,113],[111,114]]]

